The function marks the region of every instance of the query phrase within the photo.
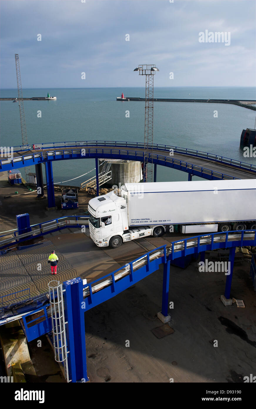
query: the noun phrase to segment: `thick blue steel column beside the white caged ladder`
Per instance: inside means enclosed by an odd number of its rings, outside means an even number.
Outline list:
[[[65,320],[67,321],[67,350],[69,378],[73,382],[87,382],[85,347],[85,309],[83,283],[80,277],[64,281]]]

